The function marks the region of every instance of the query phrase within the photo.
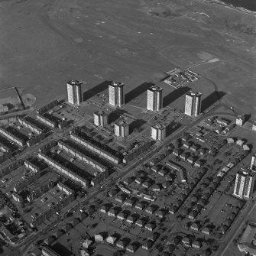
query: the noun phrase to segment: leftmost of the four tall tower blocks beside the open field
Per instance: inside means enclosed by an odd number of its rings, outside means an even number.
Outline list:
[[[82,82],[70,80],[66,83],[67,100],[71,104],[79,105],[83,101]]]

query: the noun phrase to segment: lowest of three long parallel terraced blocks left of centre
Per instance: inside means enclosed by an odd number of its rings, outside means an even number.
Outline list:
[[[66,167],[63,167],[61,164],[57,163],[57,161],[53,160],[52,158],[48,157],[46,154],[41,152],[37,153],[37,156],[50,164],[50,166],[56,168],[60,173],[69,177],[71,180],[74,180],[77,183],[80,183],[82,186],[88,186],[90,183],[88,180],[80,177],[78,174],[74,173],[73,170],[69,170]]]

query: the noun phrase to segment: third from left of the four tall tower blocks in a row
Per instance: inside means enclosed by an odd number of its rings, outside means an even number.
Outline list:
[[[147,89],[147,110],[159,111],[163,108],[163,88],[151,86]]]

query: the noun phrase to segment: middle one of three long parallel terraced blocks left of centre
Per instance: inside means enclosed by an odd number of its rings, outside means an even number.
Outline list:
[[[93,160],[91,157],[87,156],[86,154],[83,154],[82,152],[77,151],[75,148],[70,147],[70,145],[66,144],[64,141],[58,141],[58,146],[62,148],[64,151],[72,154],[74,157],[77,157],[79,160],[83,160],[86,162],[86,164],[91,165],[96,170],[99,170],[100,172],[104,173],[106,170],[108,170],[105,165],[100,164],[96,160]]]

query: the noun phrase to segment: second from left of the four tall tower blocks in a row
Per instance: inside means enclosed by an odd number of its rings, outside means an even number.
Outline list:
[[[125,104],[124,83],[112,82],[109,84],[109,105],[121,108]]]

